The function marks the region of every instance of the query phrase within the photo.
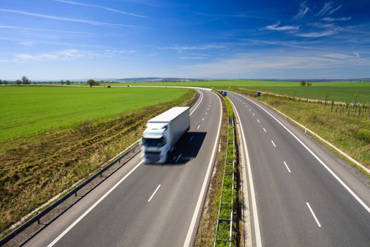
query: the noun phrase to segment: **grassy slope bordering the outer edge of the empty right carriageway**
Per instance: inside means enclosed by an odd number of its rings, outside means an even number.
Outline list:
[[[247,90],[238,90],[249,94]],[[335,110],[331,104],[289,100],[268,95],[266,103],[302,123],[307,128],[333,143],[340,150],[370,168],[370,114],[348,116],[347,110]]]

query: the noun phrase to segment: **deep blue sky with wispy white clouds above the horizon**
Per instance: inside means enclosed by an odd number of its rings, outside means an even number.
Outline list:
[[[369,0],[1,0],[0,79],[370,77],[369,11]]]

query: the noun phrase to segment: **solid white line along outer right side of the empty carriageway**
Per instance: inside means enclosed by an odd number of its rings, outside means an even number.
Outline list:
[[[247,97],[245,97],[245,99],[246,100],[249,100]],[[292,133],[292,131],[290,131],[289,128],[287,128],[283,123],[281,123],[278,119],[276,119],[276,117],[273,116],[271,113],[267,112],[266,109],[264,109],[263,107],[261,107],[259,104],[257,104],[256,102],[254,102],[252,100],[249,100],[249,101],[252,102],[253,104],[257,105],[257,107],[259,107],[262,110],[264,110],[264,112],[266,112],[267,114],[269,114],[273,119],[275,119],[275,121],[277,121],[281,126],[283,126],[283,128],[285,128],[285,130],[288,131],[288,133],[290,133],[290,135],[292,135],[312,156],[314,156],[317,159],[317,161],[319,161],[320,164],[322,164],[322,166],[325,167],[325,169],[328,170],[330,172],[330,174],[335,179],[337,179],[337,181],[354,197],[354,199],[356,199],[357,202],[359,202],[359,204],[361,204],[362,207],[364,207],[365,210],[370,213],[370,207],[368,205],[366,205],[364,203],[364,201],[361,200],[361,198],[359,198],[359,196],[356,193],[354,193],[350,189],[350,187],[348,187],[347,184],[345,182],[343,182],[342,179],[340,179],[339,176],[337,174],[335,174],[334,171],[332,171],[311,149],[309,149],[309,147],[307,147],[307,145],[305,145],[302,142],[302,140],[300,140],[300,138],[297,138],[297,136],[294,133]]]

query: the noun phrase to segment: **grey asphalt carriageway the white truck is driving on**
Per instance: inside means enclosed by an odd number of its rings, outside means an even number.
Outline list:
[[[213,169],[221,101],[200,90],[168,164],[137,155],[25,246],[192,245]]]

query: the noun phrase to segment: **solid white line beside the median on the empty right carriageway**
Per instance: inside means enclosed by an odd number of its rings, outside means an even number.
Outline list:
[[[233,104],[233,102],[231,100],[230,100],[230,102],[231,102],[231,104]],[[242,123],[240,121],[240,117],[239,117],[238,111],[235,108],[235,105],[234,104],[233,104],[233,107],[235,109],[235,114],[238,117],[239,123]],[[250,111],[250,109],[249,109],[249,111]],[[249,189],[250,189],[250,198],[252,199],[252,212],[253,212],[253,223],[254,223],[254,237],[255,237],[255,241],[256,241],[256,247],[261,247],[262,246],[261,232],[259,231],[257,203],[256,203],[256,195],[254,193],[252,169],[250,167],[250,160],[249,160],[249,154],[248,154],[248,148],[247,148],[247,141],[245,139],[245,135],[244,135],[242,124],[240,124],[240,130],[242,132],[242,140],[243,140],[243,145],[244,145],[244,149],[245,149],[245,156],[246,156],[246,160],[247,160],[248,182],[249,182]]]

